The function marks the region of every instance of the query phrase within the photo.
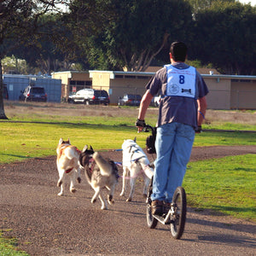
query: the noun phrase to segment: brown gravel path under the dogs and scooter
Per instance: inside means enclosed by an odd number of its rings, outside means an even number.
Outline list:
[[[256,154],[256,146],[193,148],[191,160],[233,154]],[[102,155],[121,161],[121,152]],[[129,203],[119,197],[119,182],[115,205],[102,211],[100,202],[90,204],[93,191],[85,178],[76,194],[57,196],[55,156],[0,168],[0,230],[18,238],[19,247],[31,255],[255,254],[256,224],[207,211],[188,209],[179,241],[171,238],[167,225],[149,230],[141,182]]]

